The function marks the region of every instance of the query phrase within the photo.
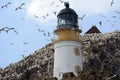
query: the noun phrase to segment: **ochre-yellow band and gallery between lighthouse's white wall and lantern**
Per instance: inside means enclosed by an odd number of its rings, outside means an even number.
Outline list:
[[[60,41],[79,41],[81,42],[80,32],[78,28],[58,28],[54,31],[56,37],[54,42]]]

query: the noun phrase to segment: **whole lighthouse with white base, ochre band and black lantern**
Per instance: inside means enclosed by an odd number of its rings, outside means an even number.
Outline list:
[[[69,8],[69,3],[65,3],[66,8],[57,15],[58,24],[54,33],[57,38],[54,41],[54,77],[62,79],[62,74],[72,72],[77,76],[77,71],[83,68],[81,54],[82,31],[78,26],[78,15]]]

